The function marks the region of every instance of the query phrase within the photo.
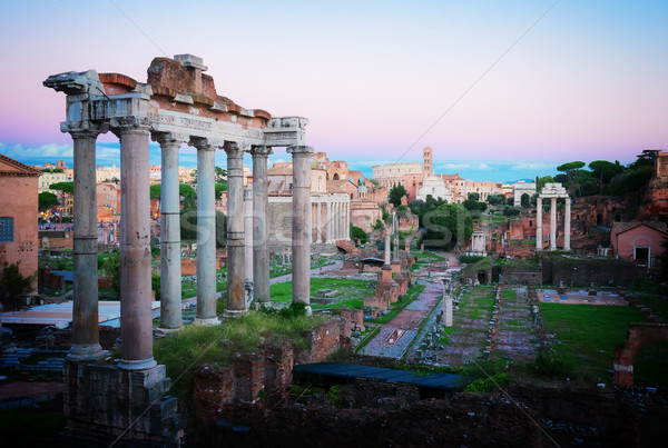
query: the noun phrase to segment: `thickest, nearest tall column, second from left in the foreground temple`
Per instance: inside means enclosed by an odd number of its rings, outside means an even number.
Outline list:
[[[148,120],[111,120],[120,133],[120,337],[118,367],[149,369],[153,358]]]

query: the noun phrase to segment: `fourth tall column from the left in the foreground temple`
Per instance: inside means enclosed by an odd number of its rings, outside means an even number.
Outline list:
[[[197,316],[193,323],[217,325],[216,147],[207,139],[193,139],[193,146],[197,148]]]

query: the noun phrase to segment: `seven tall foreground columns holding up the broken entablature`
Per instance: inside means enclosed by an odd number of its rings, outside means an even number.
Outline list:
[[[111,130],[120,139],[120,296],[121,348],[119,367],[127,370],[156,366],[153,357],[150,285],[150,217],[148,120],[115,118]],[[97,359],[104,355],[98,329],[96,139],[101,127],[69,130],[73,139],[73,316],[71,360]],[[160,329],[181,327],[180,210],[178,149],[184,138],[154,133],[161,149],[161,263]],[[195,323],[213,325],[216,316],[216,211],[215,149],[207,139],[193,138],[197,148],[197,316]],[[225,141],[228,171],[228,302],[230,315],[245,311],[243,155],[236,142]],[[253,279],[257,301],[269,301],[267,247],[267,157],[269,147],[257,146],[253,155]],[[295,146],[293,197],[293,300],[308,305],[311,257],[311,147]]]

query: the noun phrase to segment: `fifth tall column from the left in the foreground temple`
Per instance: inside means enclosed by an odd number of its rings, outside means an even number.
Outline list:
[[[227,153],[227,315],[246,310],[244,290],[244,151],[225,142]]]

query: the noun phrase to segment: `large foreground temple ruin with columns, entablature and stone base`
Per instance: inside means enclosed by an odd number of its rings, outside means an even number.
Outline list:
[[[216,325],[216,237],[214,155],[227,155],[227,316],[247,309],[244,251],[244,152],[253,156],[254,296],[269,301],[267,247],[267,157],[287,147],[294,162],[293,300],[308,306],[311,253],[311,155],[301,117],[272,117],[245,109],[217,93],[203,60],[191,54],[155,58],[147,82],[119,73],[66,72],[43,84],[67,94],[62,132],[73,140],[73,345],[65,368],[65,414],[76,438],[132,438],[173,444],[183,437],[176,399],[165,367],[153,356],[149,250],[149,139],[160,145],[161,307],[164,331],[181,327],[178,149],[197,149],[197,317],[195,325]],[[105,356],[98,335],[96,139],[114,132],[120,139],[121,190],[121,339],[117,365]],[[102,382],[100,382],[100,380]],[[98,399],[98,397],[102,397]],[[106,398],[105,398],[106,397]],[[114,397],[114,400],[107,399]],[[114,402],[114,405],[111,405]]]

